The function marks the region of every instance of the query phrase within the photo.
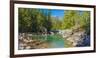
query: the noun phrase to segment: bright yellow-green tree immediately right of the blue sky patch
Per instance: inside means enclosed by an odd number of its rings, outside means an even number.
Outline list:
[[[76,10],[67,10],[64,12],[64,20],[62,29],[68,29],[73,27],[74,25],[79,24],[79,15]]]

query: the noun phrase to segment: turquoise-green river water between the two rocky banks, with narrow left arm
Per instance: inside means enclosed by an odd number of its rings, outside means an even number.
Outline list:
[[[49,43],[50,48],[64,48],[64,40],[61,35],[59,34],[54,34],[54,35],[47,35],[47,36],[42,36],[42,35],[33,35],[33,38],[44,41]]]

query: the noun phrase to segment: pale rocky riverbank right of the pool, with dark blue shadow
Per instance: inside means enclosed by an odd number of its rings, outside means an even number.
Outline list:
[[[65,32],[64,37],[65,47],[82,47],[90,46],[90,36],[81,28],[71,29],[71,32]]]

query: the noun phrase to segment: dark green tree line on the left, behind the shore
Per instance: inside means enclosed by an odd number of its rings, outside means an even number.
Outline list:
[[[52,27],[50,10],[19,8],[19,32],[50,31]]]

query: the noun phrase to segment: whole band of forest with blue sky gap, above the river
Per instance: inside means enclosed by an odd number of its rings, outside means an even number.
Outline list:
[[[19,32],[41,32],[47,30],[65,30],[80,25],[90,31],[90,11],[55,9],[18,9]]]

